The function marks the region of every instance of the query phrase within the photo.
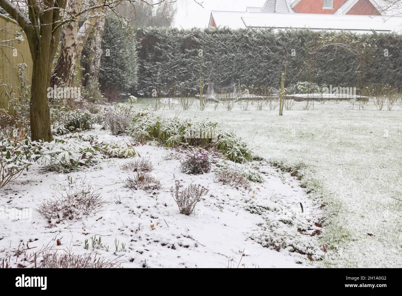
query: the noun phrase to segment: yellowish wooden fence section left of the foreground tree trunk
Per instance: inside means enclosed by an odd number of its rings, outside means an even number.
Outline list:
[[[13,40],[20,31],[23,41]],[[9,41],[13,40],[13,41]],[[25,76],[27,84],[31,84],[32,58],[25,33],[13,20],[0,14],[0,108],[6,108],[9,100],[8,94],[18,93],[21,80],[18,73],[18,64],[25,63]]]

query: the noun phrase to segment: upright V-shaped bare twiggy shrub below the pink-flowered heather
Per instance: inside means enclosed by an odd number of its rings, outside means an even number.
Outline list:
[[[174,201],[177,203],[180,214],[189,216],[201,197],[208,193],[208,189],[201,185],[189,185],[184,190],[180,190],[181,187],[183,186],[180,185],[180,182],[176,181],[175,187],[172,187],[170,191]]]

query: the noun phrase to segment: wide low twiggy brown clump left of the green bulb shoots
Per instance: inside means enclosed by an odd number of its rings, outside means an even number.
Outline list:
[[[100,196],[100,192],[93,191],[90,186],[65,186],[64,192],[59,195],[53,194],[53,198],[53,200],[42,203],[35,210],[46,217],[49,222],[55,219],[55,223],[64,219],[78,220],[82,216],[96,213],[107,203]]]

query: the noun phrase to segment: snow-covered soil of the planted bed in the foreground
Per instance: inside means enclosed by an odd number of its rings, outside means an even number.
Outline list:
[[[86,134],[96,135],[99,141],[129,142],[128,137],[111,136],[99,125]],[[118,158],[68,174],[36,164],[0,189],[0,208],[6,214],[1,219],[0,258],[10,260],[12,267],[30,267],[33,258],[29,256],[51,249],[75,255],[96,253],[97,258],[120,263],[121,267],[254,268],[307,267],[313,264],[308,254],[312,260],[324,254],[313,234],[321,229],[316,226],[319,204],[289,173],[260,162],[264,182],[252,183],[248,191],[215,182],[213,171],[203,175],[182,173],[179,160],[164,159],[165,148],[144,145],[135,149],[152,162],[152,175],[160,179],[161,190],[146,193],[125,187],[132,173],[120,168],[127,159]],[[209,190],[191,216],[180,214],[171,196],[175,181],[183,186],[201,184]],[[90,186],[108,204],[80,220],[48,221],[35,211],[48,199],[60,196],[69,184]],[[26,218],[12,216],[25,209]],[[104,247],[92,248],[91,237],[101,237]],[[273,245],[283,243],[287,247],[273,250]],[[24,251],[13,256],[18,249]]]

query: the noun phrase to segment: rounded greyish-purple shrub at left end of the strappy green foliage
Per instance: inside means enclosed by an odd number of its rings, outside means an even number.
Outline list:
[[[133,115],[131,106],[116,105],[114,109],[107,109],[103,114],[105,127],[113,135],[124,134],[133,119]]]

